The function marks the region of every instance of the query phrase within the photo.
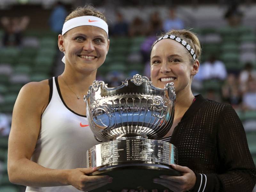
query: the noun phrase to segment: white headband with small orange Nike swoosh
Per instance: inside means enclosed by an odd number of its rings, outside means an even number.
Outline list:
[[[63,25],[61,35],[64,35],[70,29],[73,29],[79,26],[94,26],[94,27],[101,28],[104,31],[106,31],[107,37],[108,37],[108,24],[104,20],[100,19],[99,17],[90,16],[90,15],[75,17],[73,19],[66,21]],[[65,63],[65,56],[62,58],[62,62]]]

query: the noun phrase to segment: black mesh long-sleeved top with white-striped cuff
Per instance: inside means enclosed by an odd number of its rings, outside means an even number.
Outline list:
[[[230,105],[196,96],[170,142],[178,164],[196,173],[195,192],[251,192],[256,169],[244,127]]]

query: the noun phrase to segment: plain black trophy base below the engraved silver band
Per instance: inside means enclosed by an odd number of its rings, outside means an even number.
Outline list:
[[[162,164],[118,164],[102,167],[91,175],[109,175],[113,177],[113,182],[100,188],[91,190],[92,192],[102,192],[111,190],[121,192],[122,189],[143,190],[157,189],[158,192],[164,191],[166,187],[153,183],[154,178],[160,175],[181,176],[181,173],[173,170],[170,166]]]

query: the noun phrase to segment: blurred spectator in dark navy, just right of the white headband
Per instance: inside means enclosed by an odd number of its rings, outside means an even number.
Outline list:
[[[120,12],[116,13],[116,23],[113,27],[114,36],[127,36],[128,35],[128,23],[124,20],[123,15]]]

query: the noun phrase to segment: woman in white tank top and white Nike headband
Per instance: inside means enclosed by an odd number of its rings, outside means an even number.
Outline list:
[[[88,176],[86,151],[98,144],[91,132],[83,96],[105,61],[108,25],[92,6],[71,12],[58,36],[65,53],[64,72],[22,87],[9,136],[8,174],[26,192],[90,191],[112,182],[109,176]]]

